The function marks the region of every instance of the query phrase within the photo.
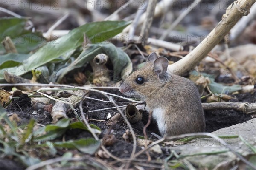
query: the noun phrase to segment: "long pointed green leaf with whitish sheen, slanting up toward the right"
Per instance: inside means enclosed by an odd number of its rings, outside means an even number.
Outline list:
[[[85,33],[91,42],[102,42],[116,34],[119,34],[123,28],[131,22],[128,21],[101,21],[86,23],[78,28],[71,30],[67,35],[47,42],[44,46],[38,49],[28,59],[23,62],[23,65],[9,68],[8,71],[20,76],[29,72],[32,69],[38,68],[53,59],[69,53],[71,50],[81,46],[83,34]],[[1,23],[1,26],[4,25]],[[3,80],[3,70],[0,70],[0,80]]]

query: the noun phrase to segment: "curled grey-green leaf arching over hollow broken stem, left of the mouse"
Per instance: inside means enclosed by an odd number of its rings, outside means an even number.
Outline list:
[[[114,79],[117,79],[122,71],[126,71],[127,75],[131,73],[131,60],[121,48],[116,48],[116,46],[111,43],[89,44],[84,51],[81,52],[79,57],[77,57],[67,68],[62,68],[57,71],[57,76],[59,76],[57,82],[61,82],[62,78],[68,72],[86,65],[87,62],[91,61],[96,55],[101,53],[108,55],[111,60],[113,64]]]

